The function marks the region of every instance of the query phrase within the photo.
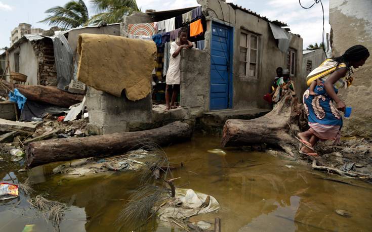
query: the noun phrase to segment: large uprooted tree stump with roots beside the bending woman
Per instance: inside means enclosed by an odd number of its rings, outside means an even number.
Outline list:
[[[229,119],[226,121],[223,136],[223,147],[250,146],[267,144],[280,147],[294,156],[298,141],[294,134],[307,129],[307,119],[302,104],[290,93],[283,96],[268,114],[252,119]]]

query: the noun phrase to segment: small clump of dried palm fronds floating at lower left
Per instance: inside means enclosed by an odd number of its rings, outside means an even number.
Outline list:
[[[52,222],[53,227],[59,230],[59,224],[64,216],[66,205],[57,201],[50,201],[41,195],[29,200],[29,203],[43,214],[44,218]]]

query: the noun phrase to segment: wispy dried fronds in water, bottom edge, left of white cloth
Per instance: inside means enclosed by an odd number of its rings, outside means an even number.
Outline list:
[[[120,211],[115,224],[125,225],[126,229],[137,229],[136,225],[142,227],[153,216],[152,209],[161,200],[163,190],[157,186],[144,185],[131,192],[131,201]]]

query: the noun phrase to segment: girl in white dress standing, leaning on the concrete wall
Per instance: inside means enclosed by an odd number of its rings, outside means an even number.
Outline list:
[[[166,103],[167,108],[166,110],[175,109],[176,106],[176,99],[178,93],[180,92],[180,82],[181,82],[181,71],[180,71],[180,60],[181,55],[180,52],[183,48],[190,49],[193,47],[193,44],[187,40],[187,28],[183,27],[178,32],[178,42],[171,43],[171,51],[170,51],[170,60],[169,60],[169,68],[167,71],[167,85],[166,85]],[[170,102],[170,88],[172,88],[172,101]]]

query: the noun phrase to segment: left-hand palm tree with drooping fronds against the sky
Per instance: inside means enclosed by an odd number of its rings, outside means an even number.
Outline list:
[[[71,0],[63,7],[52,7],[45,13],[50,15],[39,22],[48,23],[50,26],[69,29],[89,24],[88,8],[83,0]]]

